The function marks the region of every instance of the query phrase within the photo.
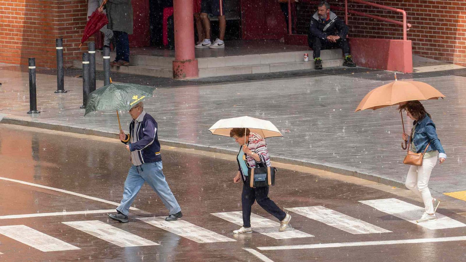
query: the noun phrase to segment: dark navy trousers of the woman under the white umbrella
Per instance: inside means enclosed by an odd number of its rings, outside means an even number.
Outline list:
[[[246,183],[243,183],[243,193],[241,194],[241,204],[243,207],[243,227],[251,227],[251,207],[257,201],[260,207],[265,211],[282,221],[286,217],[286,213],[281,210],[274,201],[268,198],[268,186],[251,188]]]

